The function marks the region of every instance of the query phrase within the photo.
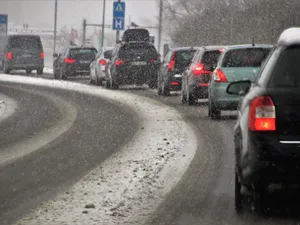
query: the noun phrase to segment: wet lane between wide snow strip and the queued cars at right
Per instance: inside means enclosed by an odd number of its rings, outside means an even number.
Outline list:
[[[128,90],[127,90],[128,91]],[[200,145],[197,153],[176,188],[146,224],[297,224],[295,214],[271,212],[267,217],[234,211],[234,144],[235,112],[222,112],[221,120],[208,118],[207,103],[184,106],[180,95],[157,96],[154,90],[129,90],[138,95],[162,101],[175,107],[196,129]],[[283,204],[291,207],[297,200]],[[296,211],[296,214],[299,210]]]

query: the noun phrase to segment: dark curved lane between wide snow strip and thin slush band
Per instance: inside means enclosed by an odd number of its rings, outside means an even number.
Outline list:
[[[131,109],[97,97],[46,87],[23,87],[69,101],[77,108],[77,119],[69,131],[52,143],[1,168],[3,224],[11,224],[70,187],[129,141],[139,124]]]

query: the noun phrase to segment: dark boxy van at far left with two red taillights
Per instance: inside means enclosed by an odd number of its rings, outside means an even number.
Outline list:
[[[44,50],[38,35],[0,36],[0,64],[4,73],[11,70],[25,70],[30,74],[36,70],[42,75],[44,70]]]

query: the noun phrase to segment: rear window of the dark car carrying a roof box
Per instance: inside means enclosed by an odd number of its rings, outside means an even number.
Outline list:
[[[156,58],[157,51],[154,46],[144,44],[128,44],[122,46],[119,50],[119,57],[122,59],[130,59],[136,56]]]

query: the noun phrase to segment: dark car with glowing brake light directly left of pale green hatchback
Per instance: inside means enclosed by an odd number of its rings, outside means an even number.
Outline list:
[[[197,50],[182,76],[182,103],[192,105],[198,99],[208,98],[210,77],[223,48],[224,46],[205,46]]]

